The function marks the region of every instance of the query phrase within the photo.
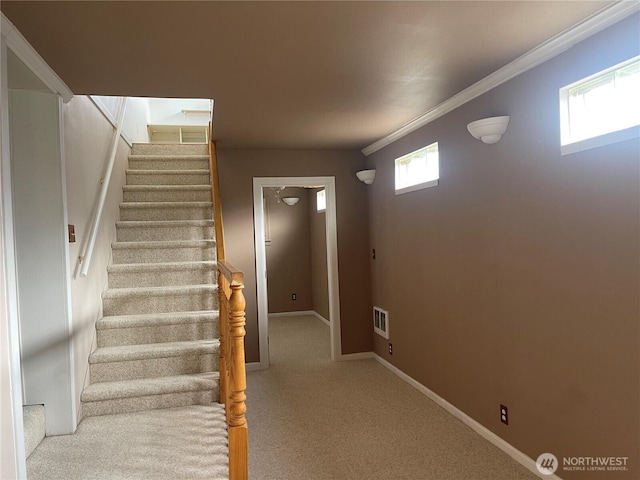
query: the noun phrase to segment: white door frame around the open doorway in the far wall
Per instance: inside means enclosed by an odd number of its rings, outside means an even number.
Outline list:
[[[329,279],[329,331],[331,360],[342,358],[340,335],[340,292],[338,284],[338,228],[336,222],[335,177],[256,177],[253,179],[253,221],[256,251],[256,287],[258,293],[258,335],[260,366],[269,368],[269,305],[267,300],[267,252],[265,248],[263,188],[324,187],[327,192],[327,273]]]

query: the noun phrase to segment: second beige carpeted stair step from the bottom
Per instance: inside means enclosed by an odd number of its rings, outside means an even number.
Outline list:
[[[212,372],[219,350],[217,339],[97,348],[89,356],[91,384]]]

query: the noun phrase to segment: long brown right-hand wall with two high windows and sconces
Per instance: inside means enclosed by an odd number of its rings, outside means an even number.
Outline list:
[[[640,478],[639,142],[561,156],[558,89],[638,55],[638,15],[368,159],[375,352],[533,459],[628,456]],[[466,125],[508,114],[502,141]],[[393,159],[440,145],[440,185]],[[499,420],[509,408],[510,424]],[[582,472],[557,472],[567,480]]]

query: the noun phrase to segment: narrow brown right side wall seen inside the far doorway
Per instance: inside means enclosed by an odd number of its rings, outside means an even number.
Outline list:
[[[309,226],[311,228],[311,295],[313,310],[329,320],[329,278],[327,272],[327,219],[318,212],[316,192],[309,197]]]

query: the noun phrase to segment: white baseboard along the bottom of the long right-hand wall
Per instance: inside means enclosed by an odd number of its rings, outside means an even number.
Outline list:
[[[371,354],[370,358],[373,358],[374,360],[376,360],[381,365],[387,367],[389,370],[391,370],[393,373],[395,373],[402,380],[407,382],[409,385],[414,387],[419,392],[421,392],[424,395],[426,395],[427,397],[429,397],[431,400],[433,400],[435,403],[437,403],[440,407],[444,408],[447,412],[449,412],[451,415],[456,417],[462,423],[467,425],[469,428],[471,428],[473,431],[475,431],[477,434],[479,434],[482,438],[484,438],[485,440],[491,442],[493,445],[498,447],[500,450],[502,450],[504,453],[509,455],[516,462],[518,462],[520,465],[525,467],[527,470],[531,471],[536,476],[538,476],[540,478],[551,479],[551,480],[562,480],[560,477],[558,477],[555,474],[554,475],[542,475],[538,471],[538,469],[536,468],[536,461],[533,460],[531,457],[529,457],[525,453],[522,453],[520,450],[518,450],[516,447],[514,447],[510,443],[507,443],[504,439],[502,439],[501,437],[499,437],[498,435],[493,433],[487,427],[485,427],[484,425],[478,423],[476,420],[471,418],[469,415],[464,413],[462,410],[456,408],[454,405],[452,405],[449,402],[447,402],[440,395],[438,395],[434,391],[430,390],[429,388],[425,387],[424,385],[422,385],[420,382],[418,382],[414,378],[411,378],[409,375],[404,373],[399,368],[397,368],[394,365],[392,365],[389,362],[387,362],[384,358],[376,355],[373,352],[369,352],[369,353]],[[360,354],[356,354],[356,355],[360,355]]]

